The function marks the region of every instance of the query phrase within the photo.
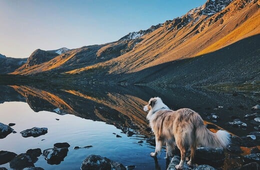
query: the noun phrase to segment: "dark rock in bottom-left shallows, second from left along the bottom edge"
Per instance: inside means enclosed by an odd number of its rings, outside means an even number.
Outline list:
[[[34,166],[37,157],[31,156],[27,153],[21,153],[16,155],[10,162],[9,166],[13,169],[22,169],[25,167]]]

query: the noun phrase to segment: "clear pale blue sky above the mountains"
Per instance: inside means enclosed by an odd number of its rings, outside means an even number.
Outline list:
[[[0,0],[0,53],[78,48],[118,40],[206,0]]]

